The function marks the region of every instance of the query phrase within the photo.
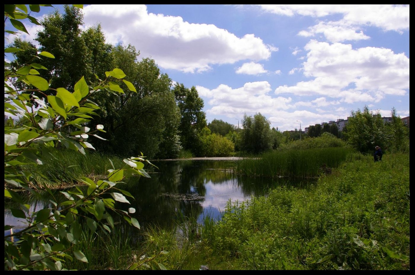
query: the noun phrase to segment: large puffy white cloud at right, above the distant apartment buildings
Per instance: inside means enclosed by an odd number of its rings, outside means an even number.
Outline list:
[[[409,58],[387,48],[353,49],[350,44],[310,41],[303,63],[310,81],[279,86],[275,94],[324,95],[344,102],[380,101],[384,95],[405,95],[409,89]],[[354,89],[347,89],[353,84]]]

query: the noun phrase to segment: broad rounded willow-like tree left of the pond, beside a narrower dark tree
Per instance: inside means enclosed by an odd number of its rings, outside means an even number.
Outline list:
[[[137,61],[134,46],[118,45],[112,52],[117,68],[127,72],[126,79],[136,92],[98,94],[98,122],[107,127],[105,139],[96,141],[97,149],[122,155],[146,152],[147,157],[177,157],[181,149],[178,139],[180,112],[171,91],[171,79],[161,73],[155,61]],[[122,85],[124,89],[125,85]]]

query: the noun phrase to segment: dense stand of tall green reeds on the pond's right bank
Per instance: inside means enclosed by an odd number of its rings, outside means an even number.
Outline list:
[[[237,162],[236,173],[248,176],[315,177],[337,167],[354,152],[347,147],[291,149],[266,152]]]

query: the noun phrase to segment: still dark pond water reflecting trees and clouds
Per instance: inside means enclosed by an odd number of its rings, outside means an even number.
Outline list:
[[[151,224],[161,227],[172,225],[178,214],[194,217],[199,223],[204,216],[220,220],[221,212],[229,200],[249,200],[251,196],[266,195],[270,188],[276,186],[295,186],[304,188],[310,180],[287,178],[249,178],[231,172],[234,161],[225,160],[181,160],[152,161],[159,169],[146,165],[145,169],[151,178],[133,177],[119,188],[129,191],[135,198],[127,197],[130,205],[119,203],[119,209],[128,211],[134,207],[132,215],[142,230]],[[118,186],[118,185],[117,185]],[[56,191],[56,195],[60,195]],[[62,197],[62,200],[65,200]],[[50,195],[44,193],[41,198],[27,196],[33,212],[52,207]],[[16,225],[17,231],[24,227],[24,222],[12,216],[12,205],[5,203],[5,225]],[[112,215],[116,220],[115,215]],[[124,222],[124,220],[122,220]],[[5,232],[6,233],[6,232]],[[7,232],[10,233],[10,232]]]

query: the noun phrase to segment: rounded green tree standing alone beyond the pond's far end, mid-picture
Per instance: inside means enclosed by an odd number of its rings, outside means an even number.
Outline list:
[[[259,153],[272,148],[271,122],[261,113],[254,116],[244,114],[242,119],[242,150],[250,153]]]

